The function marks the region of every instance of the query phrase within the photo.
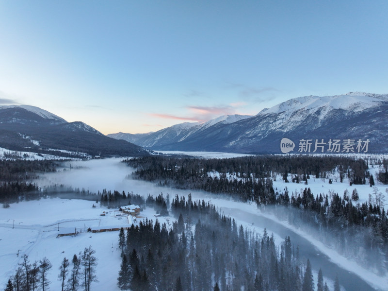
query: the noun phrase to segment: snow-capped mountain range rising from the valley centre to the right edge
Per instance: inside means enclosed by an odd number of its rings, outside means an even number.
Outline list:
[[[368,153],[388,153],[387,121],[388,94],[350,92],[294,98],[265,108],[255,116],[221,116],[204,123],[185,122],[153,133],[108,136],[152,150],[256,154],[280,153],[283,137],[295,143],[293,153],[297,153],[302,139],[311,139],[311,152],[315,140],[322,142],[323,139],[324,152],[327,152],[330,139],[339,139],[341,144],[347,139],[355,143],[368,139]],[[356,152],[356,144],[352,149]]]

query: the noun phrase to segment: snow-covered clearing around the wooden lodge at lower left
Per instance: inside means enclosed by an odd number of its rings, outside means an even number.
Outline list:
[[[98,258],[96,275],[99,280],[93,284],[92,289],[118,291],[116,277],[121,263],[121,251],[117,246],[118,231],[88,233],[86,230],[98,225],[129,226],[132,220],[127,216],[114,217],[119,213],[117,209],[106,209],[99,205],[93,208],[93,204],[96,203],[47,198],[0,208],[0,288],[14,275],[17,264],[21,263],[22,256],[27,254],[30,262],[39,261],[43,257],[49,258],[52,264],[49,271],[50,290],[60,290],[57,277],[63,258],[71,260],[74,254],[78,256],[79,252],[91,245]],[[100,216],[103,211],[106,215]],[[147,208],[140,215],[155,222],[154,214],[156,212],[153,208]],[[158,220],[161,223],[166,222],[164,217],[158,217]],[[77,227],[82,233],[57,238],[58,227],[60,230]]]

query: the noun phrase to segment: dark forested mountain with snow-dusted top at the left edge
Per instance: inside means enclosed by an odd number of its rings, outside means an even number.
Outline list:
[[[0,106],[0,147],[59,156],[148,154],[133,143],[106,137],[81,121],[67,122],[29,105]]]

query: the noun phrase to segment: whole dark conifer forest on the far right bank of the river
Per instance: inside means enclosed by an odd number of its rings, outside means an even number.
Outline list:
[[[230,159],[148,156],[124,162],[136,169],[132,176],[137,179],[255,202],[261,210],[271,211],[313,232],[323,242],[333,245],[339,254],[367,264],[380,274],[387,272],[388,211],[378,198],[382,193],[376,192],[368,202],[358,203],[356,190],[323,196],[308,188],[311,177],[325,179],[333,171],[339,172],[341,182],[346,178],[350,185],[368,183],[372,187],[374,179],[368,163],[380,163],[387,168],[387,160],[365,161],[333,155],[261,155]],[[287,187],[284,191],[274,189],[276,177],[282,177],[285,185],[293,182],[304,189],[292,193]]]

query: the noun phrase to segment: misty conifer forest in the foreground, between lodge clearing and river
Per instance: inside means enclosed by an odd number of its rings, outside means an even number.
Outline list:
[[[260,236],[237,226],[209,202],[176,204],[183,199],[173,199],[172,212],[179,218],[172,227],[157,219],[132,225],[127,234],[120,231],[121,290],[314,290],[311,265],[307,260],[303,267],[289,237],[278,249],[265,230]],[[182,213],[189,214],[186,223]],[[328,290],[323,277],[318,284]]]

